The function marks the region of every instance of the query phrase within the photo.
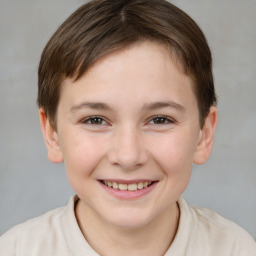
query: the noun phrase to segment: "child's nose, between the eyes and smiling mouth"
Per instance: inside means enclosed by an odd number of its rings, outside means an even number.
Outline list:
[[[113,137],[108,154],[111,164],[125,171],[133,171],[148,161],[143,135],[139,131],[124,128],[117,131]]]

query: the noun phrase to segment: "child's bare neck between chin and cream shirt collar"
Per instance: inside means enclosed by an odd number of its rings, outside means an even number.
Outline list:
[[[76,217],[87,242],[99,255],[162,256],[177,232],[179,207],[174,204],[139,228],[106,223],[80,200],[76,206]]]

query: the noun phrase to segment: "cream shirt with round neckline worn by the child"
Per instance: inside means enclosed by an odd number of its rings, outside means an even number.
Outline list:
[[[0,237],[0,256],[96,256],[77,224],[74,204],[15,226]],[[233,222],[215,212],[178,201],[181,216],[165,256],[256,256],[256,243]],[[154,255],[155,256],[155,255]]]

